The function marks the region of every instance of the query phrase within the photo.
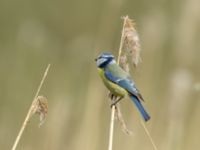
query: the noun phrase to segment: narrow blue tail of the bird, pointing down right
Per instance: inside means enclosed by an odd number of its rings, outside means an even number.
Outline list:
[[[140,114],[144,118],[145,121],[148,121],[150,119],[149,114],[146,112],[144,107],[142,106],[141,102],[133,95],[130,95],[131,100],[135,103],[136,107],[138,108]]]

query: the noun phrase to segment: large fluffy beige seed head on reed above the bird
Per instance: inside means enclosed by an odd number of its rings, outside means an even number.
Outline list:
[[[139,36],[135,29],[133,20],[124,17],[123,49],[131,56],[132,63],[136,67],[140,61]]]

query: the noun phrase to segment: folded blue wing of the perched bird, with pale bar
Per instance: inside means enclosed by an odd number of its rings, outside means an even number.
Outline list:
[[[142,95],[135,87],[134,82],[128,76],[126,78],[120,78],[114,75],[111,71],[105,70],[105,77],[113,83],[126,89],[130,94],[136,96],[139,100],[143,100]]]

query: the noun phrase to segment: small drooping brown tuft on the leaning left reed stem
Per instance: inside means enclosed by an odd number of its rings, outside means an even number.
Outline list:
[[[32,112],[32,114],[38,114],[40,116],[40,127],[44,123],[48,112],[47,98],[44,96],[38,96],[34,101]]]

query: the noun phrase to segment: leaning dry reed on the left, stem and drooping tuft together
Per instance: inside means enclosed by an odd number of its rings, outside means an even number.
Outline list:
[[[13,147],[12,147],[12,150],[16,150],[17,148],[17,145],[19,143],[19,140],[21,139],[22,137],[22,134],[24,132],[24,129],[26,128],[27,126],[27,123],[30,121],[30,119],[32,118],[32,116],[34,114],[39,114],[40,115],[40,124],[39,124],[39,127],[44,123],[45,121],[45,118],[46,118],[46,115],[47,115],[47,111],[48,111],[48,104],[47,104],[47,99],[44,97],[44,96],[38,96],[39,95],[39,92],[40,92],[40,89],[42,88],[42,85],[44,83],[44,80],[48,74],[48,71],[49,71],[49,68],[50,68],[50,64],[47,66],[45,72],[44,72],[44,75],[42,77],[42,80],[40,82],[40,85],[38,86],[38,89],[37,89],[37,92],[35,94],[35,97],[32,101],[32,104],[28,110],[28,113],[26,115],[26,118],[20,128],[20,131],[15,139],[15,142],[13,144]]]

